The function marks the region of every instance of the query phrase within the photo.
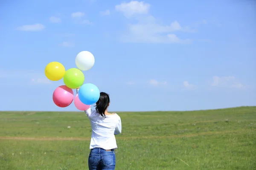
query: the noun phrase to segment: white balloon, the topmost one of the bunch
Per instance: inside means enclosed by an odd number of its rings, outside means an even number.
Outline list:
[[[93,54],[91,54],[89,51],[81,51],[79,54],[77,54],[75,62],[77,68],[82,71],[87,71],[93,67],[95,59]]]

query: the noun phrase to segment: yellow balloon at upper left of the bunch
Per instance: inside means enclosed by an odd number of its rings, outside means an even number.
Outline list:
[[[65,68],[59,62],[50,62],[45,67],[44,74],[49,80],[58,81],[64,76]]]

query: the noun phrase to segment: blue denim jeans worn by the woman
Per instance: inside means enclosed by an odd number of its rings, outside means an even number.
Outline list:
[[[92,149],[88,159],[88,166],[89,170],[114,170],[116,167],[115,151],[107,151],[102,148]]]

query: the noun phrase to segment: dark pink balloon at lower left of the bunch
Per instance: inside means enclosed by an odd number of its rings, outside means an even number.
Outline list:
[[[61,85],[53,92],[52,99],[55,105],[61,108],[65,108],[73,102],[73,90],[65,85]]]

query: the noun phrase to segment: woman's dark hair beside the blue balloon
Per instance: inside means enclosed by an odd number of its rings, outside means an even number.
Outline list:
[[[96,102],[95,109],[103,117],[106,117],[105,111],[108,108],[109,102],[110,102],[109,95],[104,92],[101,92],[99,96],[99,100],[98,102]]]

